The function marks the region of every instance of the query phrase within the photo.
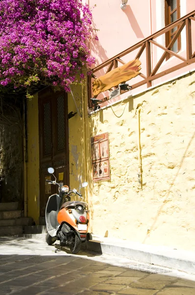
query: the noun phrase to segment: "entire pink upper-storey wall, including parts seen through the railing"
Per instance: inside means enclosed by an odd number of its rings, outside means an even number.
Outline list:
[[[195,10],[195,0],[180,1],[182,3],[182,9],[185,10],[184,15]],[[142,39],[164,27],[164,17],[161,15],[164,13],[163,0],[128,0],[125,10],[121,9],[121,2],[121,0],[89,0],[90,7],[97,4],[97,6],[93,8],[92,13],[94,27],[99,29],[97,31],[98,41],[92,41],[90,46],[91,53],[97,60],[95,66],[114,57],[123,50],[133,46]],[[195,36],[195,21],[192,21],[192,36]],[[163,38],[160,41],[157,41],[162,45],[165,45],[163,44]],[[179,54],[186,58],[185,44],[183,44],[183,42],[186,42],[185,32],[183,32],[182,37],[183,49],[179,52]],[[193,50],[195,51],[195,37],[193,38]],[[135,56],[136,52],[133,52],[122,59],[127,62],[134,59]],[[160,57],[161,52],[156,49],[156,46],[152,46],[153,67]],[[142,73],[146,75],[146,58],[143,56],[140,60],[142,62]],[[171,57],[171,59],[163,63],[160,68],[160,72],[180,62],[182,61],[175,57]],[[121,64],[119,64],[119,66],[120,65]],[[195,68],[195,64],[191,64],[190,66],[163,76],[162,78],[153,81],[153,85],[171,79],[193,68]],[[104,73],[105,69],[102,69],[96,73],[96,76],[99,77]],[[143,79],[141,77],[137,77],[133,79],[132,84],[142,80]],[[139,89],[132,90],[132,93],[136,93],[144,89],[146,89],[146,85]],[[105,93],[100,94],[98,98],[101,99],[104,95]]]

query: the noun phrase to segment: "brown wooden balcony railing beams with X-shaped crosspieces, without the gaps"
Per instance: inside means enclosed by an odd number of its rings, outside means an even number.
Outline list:
[[[143,78],[143,80],[136,83],[136,84],[131,85],[132,89],[138,88],[138,87],[143,86],[145,84],[146,84],[146,88],[152,86],[152,81],[154,81],[155,79],[158,79],[162,76],[165,76],[173,71],[176,71],[180,68],[183,68],[183,67],[195,62],[195,52],[193,52],[193,46],[192,46],[192,31],[191,31],[191,22],[192,21],[195,21],[195,10],[192,11],[191,13],[187,14],[186,16],[180,18],[179,20],[175,21],[171,25],[157,31],[156,33],[152,34],[151,36],[147,37],[146,39],[144,39],[144,40],[138,42],[137,44],[131,46],[130,48],[122,51],[120,54],[116,55],[112,59],[108,59],[105,62],[103,62],[102,64],[98,65],[97,67],[95,67],[92,70],[93,74],[96,75],[96,73],[103,68],[107,68],[107,70],[105,70],[104,73],[108,73],[113,68],[118,67],[119,63],[121,63],[120,66],[122,64],[125,64],[126,62],[124,62],[122,60],[122,57],[128,55],[129,53],[132,53],[133,51],[136,51],[136,53],[137,53],[137,51],[139,49],[138,53],[135,54],[133,59],[143,58],[143,55],[144,55],[144,59],[146,62],[146,68],[145,68],[146,74],[144,75],[143,73],[141,73],[139,75]],[[155,40],[157,37],[159,37],[161,35],[165,35],[168,31],[171,31],[171,29],[174,29],[175,27],[176,27],[175,34],[167,47],[159,44]],[[171,50],[173,44],[177,41],[177,39],[181,35],[181,31],[184,28],[186,29],[186,57],[185,58],[183,56],[179,55],[178,53],[175,53]],[[153,47],[152,51],[154,51],[154,46],[161,48],[161,50],[164,51],[161,58],[157,61],[157,63],[155,65],[153,65],[153,61],[151,58],[152,57],[151,44]],[[180,62],[179,64],[177,64],[175,66],[171,66],[170,68],[167,68],[166,70],[158,72],[163,61],[170,56],[174,56],[177,59],[182,60],[182,62]],[[91,89],[91,78],[88,79],[88,82],[89,82],[88,83],[89,105],[91,105],[90,98],[93,97],[92,96],[93,95],[92,89]],[[102,102],[104,102],[106,100],[108,100],[108,98],[104,98],[102,100]]]

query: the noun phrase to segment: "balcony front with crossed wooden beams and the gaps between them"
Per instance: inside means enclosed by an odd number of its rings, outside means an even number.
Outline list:
[[[142,62],[141,74],[132,80],[129,84],[134,89],[146,90],[155,86],[161,81],[169,79],[169,74],[191,65],[195,62],[195,10],[188,15],[180,18],[171,25],[157,31],[151,36],[131,46],[119,53],[115,57],[106,60],[95,67],[92,71],[97,77],[104,75],[112,69],[121,66],[132,59],[139,59]],[[166,47],[162,45],[166,39],[166,34],[174,30],[171,42]],[[181,40],[182,49],[175,53],[172,51],[173,45],[177,40]],[[186,68],[190,69],[190,68]],[[183,71],[184,72],[184,71]],[[165,77],[166,76],[166,77]],[[174,75],[172,75],[173,77]],[[164,77],[164,79],[159,80]],[[88,79],[88,102],[92,106],[90,98],[92,93],[93,79]],[[108,92],[98,95],[101,100],[100,106],[106,105],[109,99]],[[119,98],[114,98],[119,100]]]

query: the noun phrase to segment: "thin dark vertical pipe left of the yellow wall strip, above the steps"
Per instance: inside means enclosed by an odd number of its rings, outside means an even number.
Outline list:
[[[27,103],[26,98],[23,102],[23,118],[24,118],[24,217],[27,217],[27,161],[28,161],[28,145],[27,145]]]

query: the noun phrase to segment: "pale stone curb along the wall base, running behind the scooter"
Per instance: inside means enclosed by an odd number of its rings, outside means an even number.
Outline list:
[[[46,234],[25,234],[23,237],[45,241]],[[123,256],[140,263],[148,263],[195,274],[194,252],[137,244],[125,240],[110,239],[107,241],[106,238],[96,236],[93,236],[93,238],[93,240],[82,244],[83,250],[87,249],[100,254]]]

